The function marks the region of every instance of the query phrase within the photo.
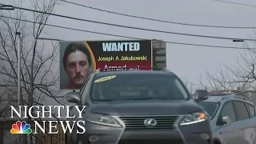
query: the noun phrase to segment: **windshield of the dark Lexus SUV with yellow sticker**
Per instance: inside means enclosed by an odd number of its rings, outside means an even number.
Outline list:
[[[185,100],[189,93],[173,75],[120,74],[94,78],[94,101],[167,99]]]

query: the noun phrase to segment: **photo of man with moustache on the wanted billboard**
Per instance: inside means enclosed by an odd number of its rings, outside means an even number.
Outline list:
[[[94,67],[84,42],[60,42],[60,60],[60,89],[80,89]]]

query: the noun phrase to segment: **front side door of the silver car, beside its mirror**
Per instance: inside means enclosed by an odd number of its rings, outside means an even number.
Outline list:
[[[234,123],[237,122],[237,117],[234,111],[234,106],[231,101],[224,103],[222,106],[222,110],[218,118],[229,117],[230,123],[229,124],[218,124],[218,137],[222,140],[225,144],[241,144],[238,141],[238,131],[234,128]]]

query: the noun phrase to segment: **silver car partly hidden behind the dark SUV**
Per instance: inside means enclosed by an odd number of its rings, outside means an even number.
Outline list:
[[[255,105],[238,95],[210,95],[199,104],[210,114],[213,144],[256,144]]]

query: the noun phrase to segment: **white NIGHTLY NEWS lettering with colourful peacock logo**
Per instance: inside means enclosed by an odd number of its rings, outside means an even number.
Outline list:
[[[70,107],[71,106],[18,106],[18,110],[14,108],[14,106],[10,106],[11,108],[11,116],[10,118],[15,118],[14,113],[17,114],[18,118],[54,118],[52,116],[52,110],[58,110],[58,116],[56,118],[76,118],[76,115],[70,116]],[[22,110],[23,108],[23,110]],[[49,108],[49,110],[46,110]],[[79,109],[79,106],[74,106],[75,110],[78,111],[78,118],[82,118],[82,111],[86,108],[86,106],[82,106],[82,110]],[[38,109],[36,111],[36,116],[32,114],[32,110]],[[61,116],[61,109],[66,111],[65,117]],[[22,117],[24,115],[24,117]],[[86,132],[86,128],[83,127],[85,125],[85,121],[57,121],[57,120],[47,120],[47,121],[33,121],[34,122],[34,130],[31,130],[30,124],[27,124],[25,121],[18,121],[12,125],[10,130],[11,134],[31,134],[34,131],[34,134],[38,134],[38,130],[41,130],[43,134],[58,134],[57,125],[58,122],[61,124],[61,128],[66,134],[67,129],[69,129],[70,134],[74,131],[74,125],[77,125],[78,129],[76,131],[77,134],[84,134]],[[40,124],[42,122],[42,124]],[[46,124],[49,124],[49,131],[46,132]],[[71,125],[72,123],[72,125]],[[55,129],[55,130],[54,130]],[[80,130],[80,131],[79,131]]]

